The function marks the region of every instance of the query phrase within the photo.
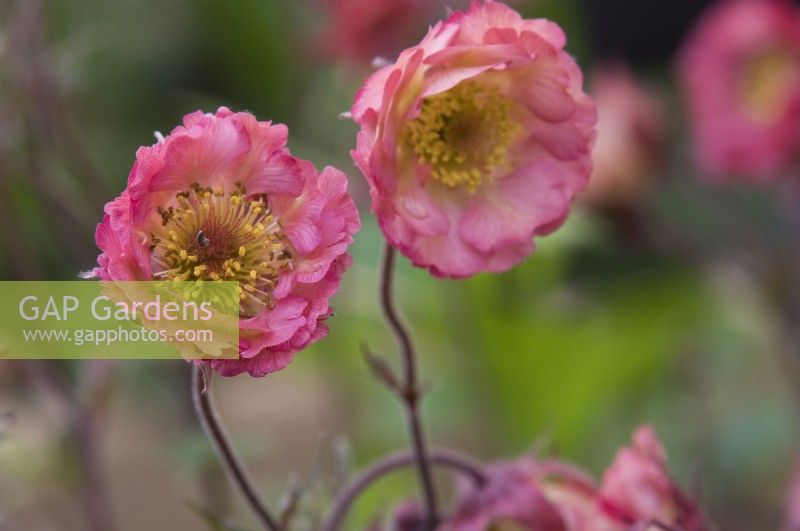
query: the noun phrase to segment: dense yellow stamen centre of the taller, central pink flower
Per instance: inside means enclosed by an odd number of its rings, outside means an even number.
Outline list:
[[[433,178],[474,193],[495,172],[511,168],[510,147],[520,130],[497,87],[464,81],[422,102],[405,143]]]

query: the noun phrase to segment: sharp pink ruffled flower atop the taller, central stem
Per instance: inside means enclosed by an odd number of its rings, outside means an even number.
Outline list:
[[[475,2],[370,76],[353,159],[389,243],[441,277],[504,271],[586,187],[596,113],[553,22]]]

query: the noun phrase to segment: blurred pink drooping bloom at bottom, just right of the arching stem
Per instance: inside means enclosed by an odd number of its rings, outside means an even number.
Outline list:
[[[588,530],[596,489],[580,470],[523,458],[487,467],[488,482],[462,487],[455,512],[440,531]]]

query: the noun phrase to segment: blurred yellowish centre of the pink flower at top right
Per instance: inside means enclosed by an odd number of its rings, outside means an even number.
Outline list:
[[[800,65],[788,53],[759,55],[745,68],[741,97],[747,112],[761,123],[777,120],[800,77]]]

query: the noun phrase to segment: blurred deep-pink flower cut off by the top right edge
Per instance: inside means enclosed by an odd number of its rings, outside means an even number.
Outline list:
[[[765,181],[800,147],[800,13],[784,1],[718,2],[680,54],[695,158],[712,178]]]

